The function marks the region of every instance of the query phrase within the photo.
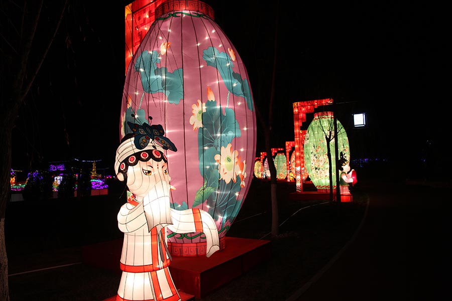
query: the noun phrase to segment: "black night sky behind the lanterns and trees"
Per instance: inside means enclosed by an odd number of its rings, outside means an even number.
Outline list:
[[[205,2],[244,61],[265,116],[277,30],[273,147],[293,140],[293,102],[329,97],[367,112],[372,156],[416,157],[425,140],[440,143],[449,118],[442,114],[450,108],[444,8]],[[124,5],[92,3],[70,8],[21,110],[14,169],[74,158],[113,165],[124,86]],[[258,147],[263,142],[258,123]]]

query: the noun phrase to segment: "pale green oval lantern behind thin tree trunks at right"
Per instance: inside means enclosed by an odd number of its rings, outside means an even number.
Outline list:
[[[329,190],[329,163],[327,157],[327,144],[325,133],[332,132],[334,135],[333,112],[314,113],[314,118],[309,124],[304,138],[304,164],[309,178],[317,190]],[[332,188],[336,188],[334,181],[336,174],[336,157],[334,139],[329,142],[332,164]],[[349,139],[345,128],[337,120],[337,147],[339,153],[343,152],[344,157],[350,161]]]

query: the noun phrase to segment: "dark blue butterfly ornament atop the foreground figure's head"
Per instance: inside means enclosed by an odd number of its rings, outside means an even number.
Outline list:
[[[149,116],[149,119],[152,120],[152,117]],[[176,146],[170,139],[164,136],[165,131],[163,130],[163,126],[161,124],[157,125],[149,125],[146,122],[143,124],[132,123],[130,121],[127,122],[129,124],[132,133],[134,134],[134,143],[135,147],[138,149],[145,148],[149,142],[157,143],[163,149],[169,149],[173,152],[177,151]]]

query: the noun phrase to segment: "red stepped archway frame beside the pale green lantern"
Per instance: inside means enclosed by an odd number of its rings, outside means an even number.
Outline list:
[[[303,192],[302,182],[301,182],[301,168],[304,167],[304,135],[305,130],[302,130],[301,124],[306,121],[306,113],[313,113],[314,109],[319,105],[332,104],[332,98],[299,101],[293,103],[293,128],[295,134],[295,181],[296,181],[296,192]],[[286,144],[287,145],[287,144]]]

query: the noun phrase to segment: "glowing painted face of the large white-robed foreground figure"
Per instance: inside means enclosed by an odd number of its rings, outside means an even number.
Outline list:
[[[135,166],[129,166],[127,171],[127,187],[138,197],[145,197],[160,182],[165,183],[162,187],[169,194],[170,179],[167,164],[163,160],[140,161]]]

